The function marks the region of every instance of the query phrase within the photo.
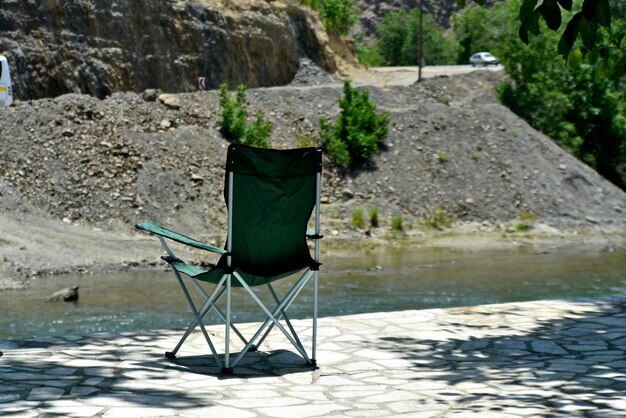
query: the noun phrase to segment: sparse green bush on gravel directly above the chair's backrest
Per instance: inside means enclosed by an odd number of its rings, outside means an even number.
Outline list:
[[[246,86],[239,85],[233,99],[228,93],[228,84],[220,85],[220,107],[222,108],[220,132],[226,139],[253,147],[269,147],[273,125],[265,120],[263,113],[258,113],[254,122],[247,124]]]

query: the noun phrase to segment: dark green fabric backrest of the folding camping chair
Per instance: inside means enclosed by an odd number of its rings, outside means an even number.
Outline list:
[[[319,148],[228,147],[224,197],[234,267],[274,277],[314,266],[306,230],[319,204],[321,172]]]

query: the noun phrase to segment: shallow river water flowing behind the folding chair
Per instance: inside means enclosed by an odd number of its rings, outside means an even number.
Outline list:
[[[625,249],[552,253],[381,249],[325,255],[322,261],[321,316],[626,292]],[[277,292],[283,294],[291,282],[277,282]],[[52,293],[71,286],[80,286],[77,302],[47,301]],[[236,291],[235,320],[261,319],[249,298],[240,302],[237,295],[244,296],[243,290]],[[290,317],[310,317],[311,297],[310,283],[290,308]],[[179,328],[189,319],[171,272],[39,279],[28,290],[0,292],[0,348],[15,338]],[[207,322],[219,323],[214,317]]]

